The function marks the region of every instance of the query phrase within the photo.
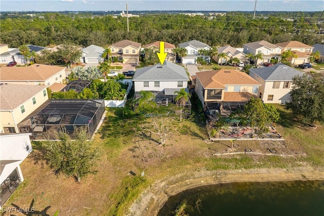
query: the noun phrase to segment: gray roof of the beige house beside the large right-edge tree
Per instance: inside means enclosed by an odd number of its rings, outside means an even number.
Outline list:
[[[294,76],[302,76],[304,74],[282,63],[275,64],[271,67],[251,68],[249,70],[266,81],[292,81]]]

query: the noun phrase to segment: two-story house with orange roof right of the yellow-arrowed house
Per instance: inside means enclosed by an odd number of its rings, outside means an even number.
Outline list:
[[[245,72],[232,69],[196,73],[195,89],[205,111],[241,109],[257,97],[260,83]]]

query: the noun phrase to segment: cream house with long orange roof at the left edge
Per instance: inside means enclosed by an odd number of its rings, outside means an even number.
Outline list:
[[[0,81],[13,84],[51,85],[62,83],[65,67],[33,64],[28,67],[2,67]]]

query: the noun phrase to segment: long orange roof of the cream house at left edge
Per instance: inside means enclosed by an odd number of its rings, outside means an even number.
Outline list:
[[[28,67],[2,67],[0,81],[45,81],[65,67],[33,64]]]

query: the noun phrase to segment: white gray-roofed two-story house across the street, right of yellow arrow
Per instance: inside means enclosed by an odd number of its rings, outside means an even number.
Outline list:
[[[187,50],[187,56],[182,57],[181,59],[182,64],[196,64],[198,57],[202,57],[204,61],[210,62],[210,56],[201,54],[200,50],[208,51],[212,48],[203,42],[190,40],[179,44],[179,47]]]

